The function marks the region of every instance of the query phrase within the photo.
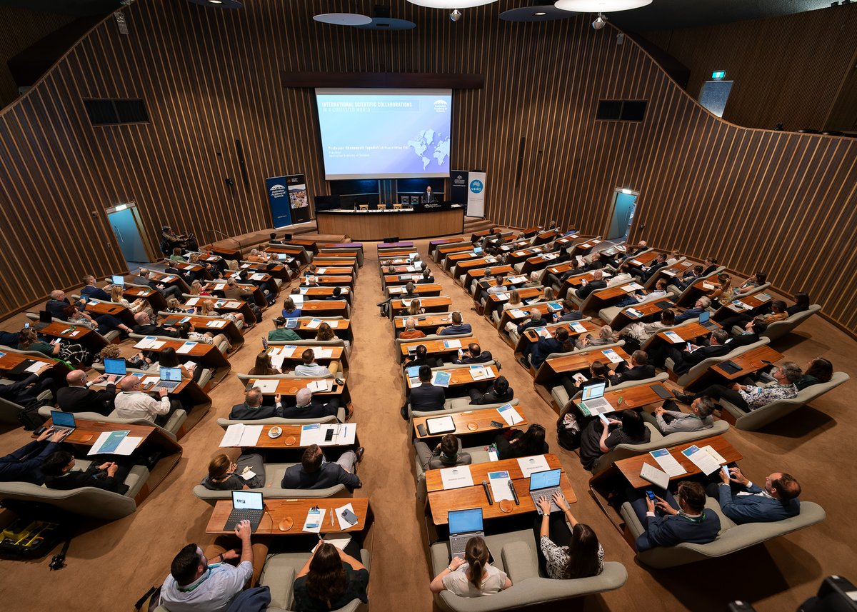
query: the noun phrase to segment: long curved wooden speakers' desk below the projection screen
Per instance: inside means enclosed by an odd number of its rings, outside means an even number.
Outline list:
[[[315,213],[322,234],[345,234],[352,240],[383,240],[388,236],[428,238],[464,231],[464,207],[417,212],[413,210],[352,210]]]

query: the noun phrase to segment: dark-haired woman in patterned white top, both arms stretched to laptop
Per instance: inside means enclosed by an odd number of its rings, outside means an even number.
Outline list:
[[[553,499],[560,512],[551,513],[550,500],[542,495],[538,501],[542,516],[536,517],[534,527],[542,572],[554,580],[589,578],[602,573],[604,549],[595,531],[589,525],[578,523],[559,491],[554,493]]]

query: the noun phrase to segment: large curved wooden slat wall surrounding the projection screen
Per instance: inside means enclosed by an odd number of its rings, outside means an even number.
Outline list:
[[[494,3],[452,23],[396,0],[393,15],[417,29],[375,33],[311,21],[311,4],[135,3],[130,36],[105,22],[0,114],[0,313],[123,267],[105,207],[136,201],[153,233],[166,222],[205,240],[270,223],[264,177],[303,171],[311,195],[327,193],[314,94],[281,87],[281,73],[441,72],[485,77],[455,93],[451,157],[453,169],[488,172],[488,218],[600,233],[613,189],[637,189],[633,237],[764,268],[857,331],[857,143],[711,117],[585,16],[508,23]],[[92,128],[81,98],[107,96],[145,99],[152,123]],[[598,99],[650,102],[642,123],[607,123],[594,121]]]

